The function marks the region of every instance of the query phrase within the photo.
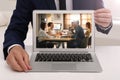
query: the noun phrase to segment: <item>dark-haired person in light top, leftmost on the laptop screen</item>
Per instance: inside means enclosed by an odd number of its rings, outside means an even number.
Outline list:
[[[46,28],[47,24],[44,22],[41,22],[40,24],[40,30],[39,30],[39,34],[38,34],[38,43],[39,47],[38,48],[52,48],[54,45],[52,43],[46,43],[46,41],[44,41],[44,38],[53,38],[53,36],[50,36],[46,33],[45,28]]]

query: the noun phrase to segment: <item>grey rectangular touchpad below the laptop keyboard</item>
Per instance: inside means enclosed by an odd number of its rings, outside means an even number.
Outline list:
[[[76,64],[69,64],[69,63],[55,63],[52,64],[53,70],[76,70]]]

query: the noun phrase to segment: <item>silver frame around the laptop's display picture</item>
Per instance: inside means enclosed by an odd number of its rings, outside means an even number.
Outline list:
[[[92,48],[65,48],[65,49],[54,49],[54,48],[37,48],[36,47],[36,22],[37,22],[37,15],[38,14],[64,14],[64,13],[90,13],[92,14],[92,42],[91,47]],[[95,32],[94,32],[95,22],[94,22],[94,10],[73,10],[73,11],[66,11],[66,10],[34,10],[33,11],[33,52],[39,52],[39,51],[88,51],[88,52],[94,52],[95,51]]]

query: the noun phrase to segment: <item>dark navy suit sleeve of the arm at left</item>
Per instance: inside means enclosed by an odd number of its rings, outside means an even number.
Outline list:
[[[32,10],[33,6],[30,0],[17,0],[16,9],[4,35],[3,52],[5,59],[8,55],[9,46],[20,44],[24,48],[23,41],[26,38],[28,24],[32,20]]]

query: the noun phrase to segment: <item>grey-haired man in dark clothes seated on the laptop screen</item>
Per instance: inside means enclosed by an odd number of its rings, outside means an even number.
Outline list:
[[[74,34],[72,35],[73,40],[67,43],[68,48],[83,48],[82,41],[85,38],[83,28],[79,25],[79,21],[73,22]]]

